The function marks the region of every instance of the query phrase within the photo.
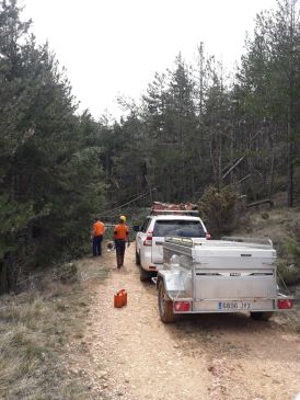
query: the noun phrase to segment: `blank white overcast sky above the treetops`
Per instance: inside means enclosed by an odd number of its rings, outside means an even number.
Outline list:
[[[154,72],[197,45],[232,70],[261,10],[275,0],[22,0],[38,43],[49,42],[67,68],[80,110],[95,118],[120,111],[118,94],[139,99]]]

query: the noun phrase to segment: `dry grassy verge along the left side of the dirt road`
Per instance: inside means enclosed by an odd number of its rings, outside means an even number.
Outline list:
[[[70,341],[83,336],[92,290],[107,270],[85,260],[35,275],[31,289],[0,298],[0,398],[89,399],[70,374]],[[76,351],[76,350],[74,350]]]

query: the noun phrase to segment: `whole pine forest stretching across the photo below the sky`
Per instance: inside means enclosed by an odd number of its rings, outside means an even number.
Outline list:
[[[297,0],[256,16],[230,76],[197,48],[157,73],[120,122],[77,112],[66,72],[16,0],[0,1],[0,278],[79,255],[91,218],[139,197],[199,202],[231,185],[247,202],[300,194]],[[145,194],[145,196],[142,196]],[[299,204],[299,203],[298,203]]]

